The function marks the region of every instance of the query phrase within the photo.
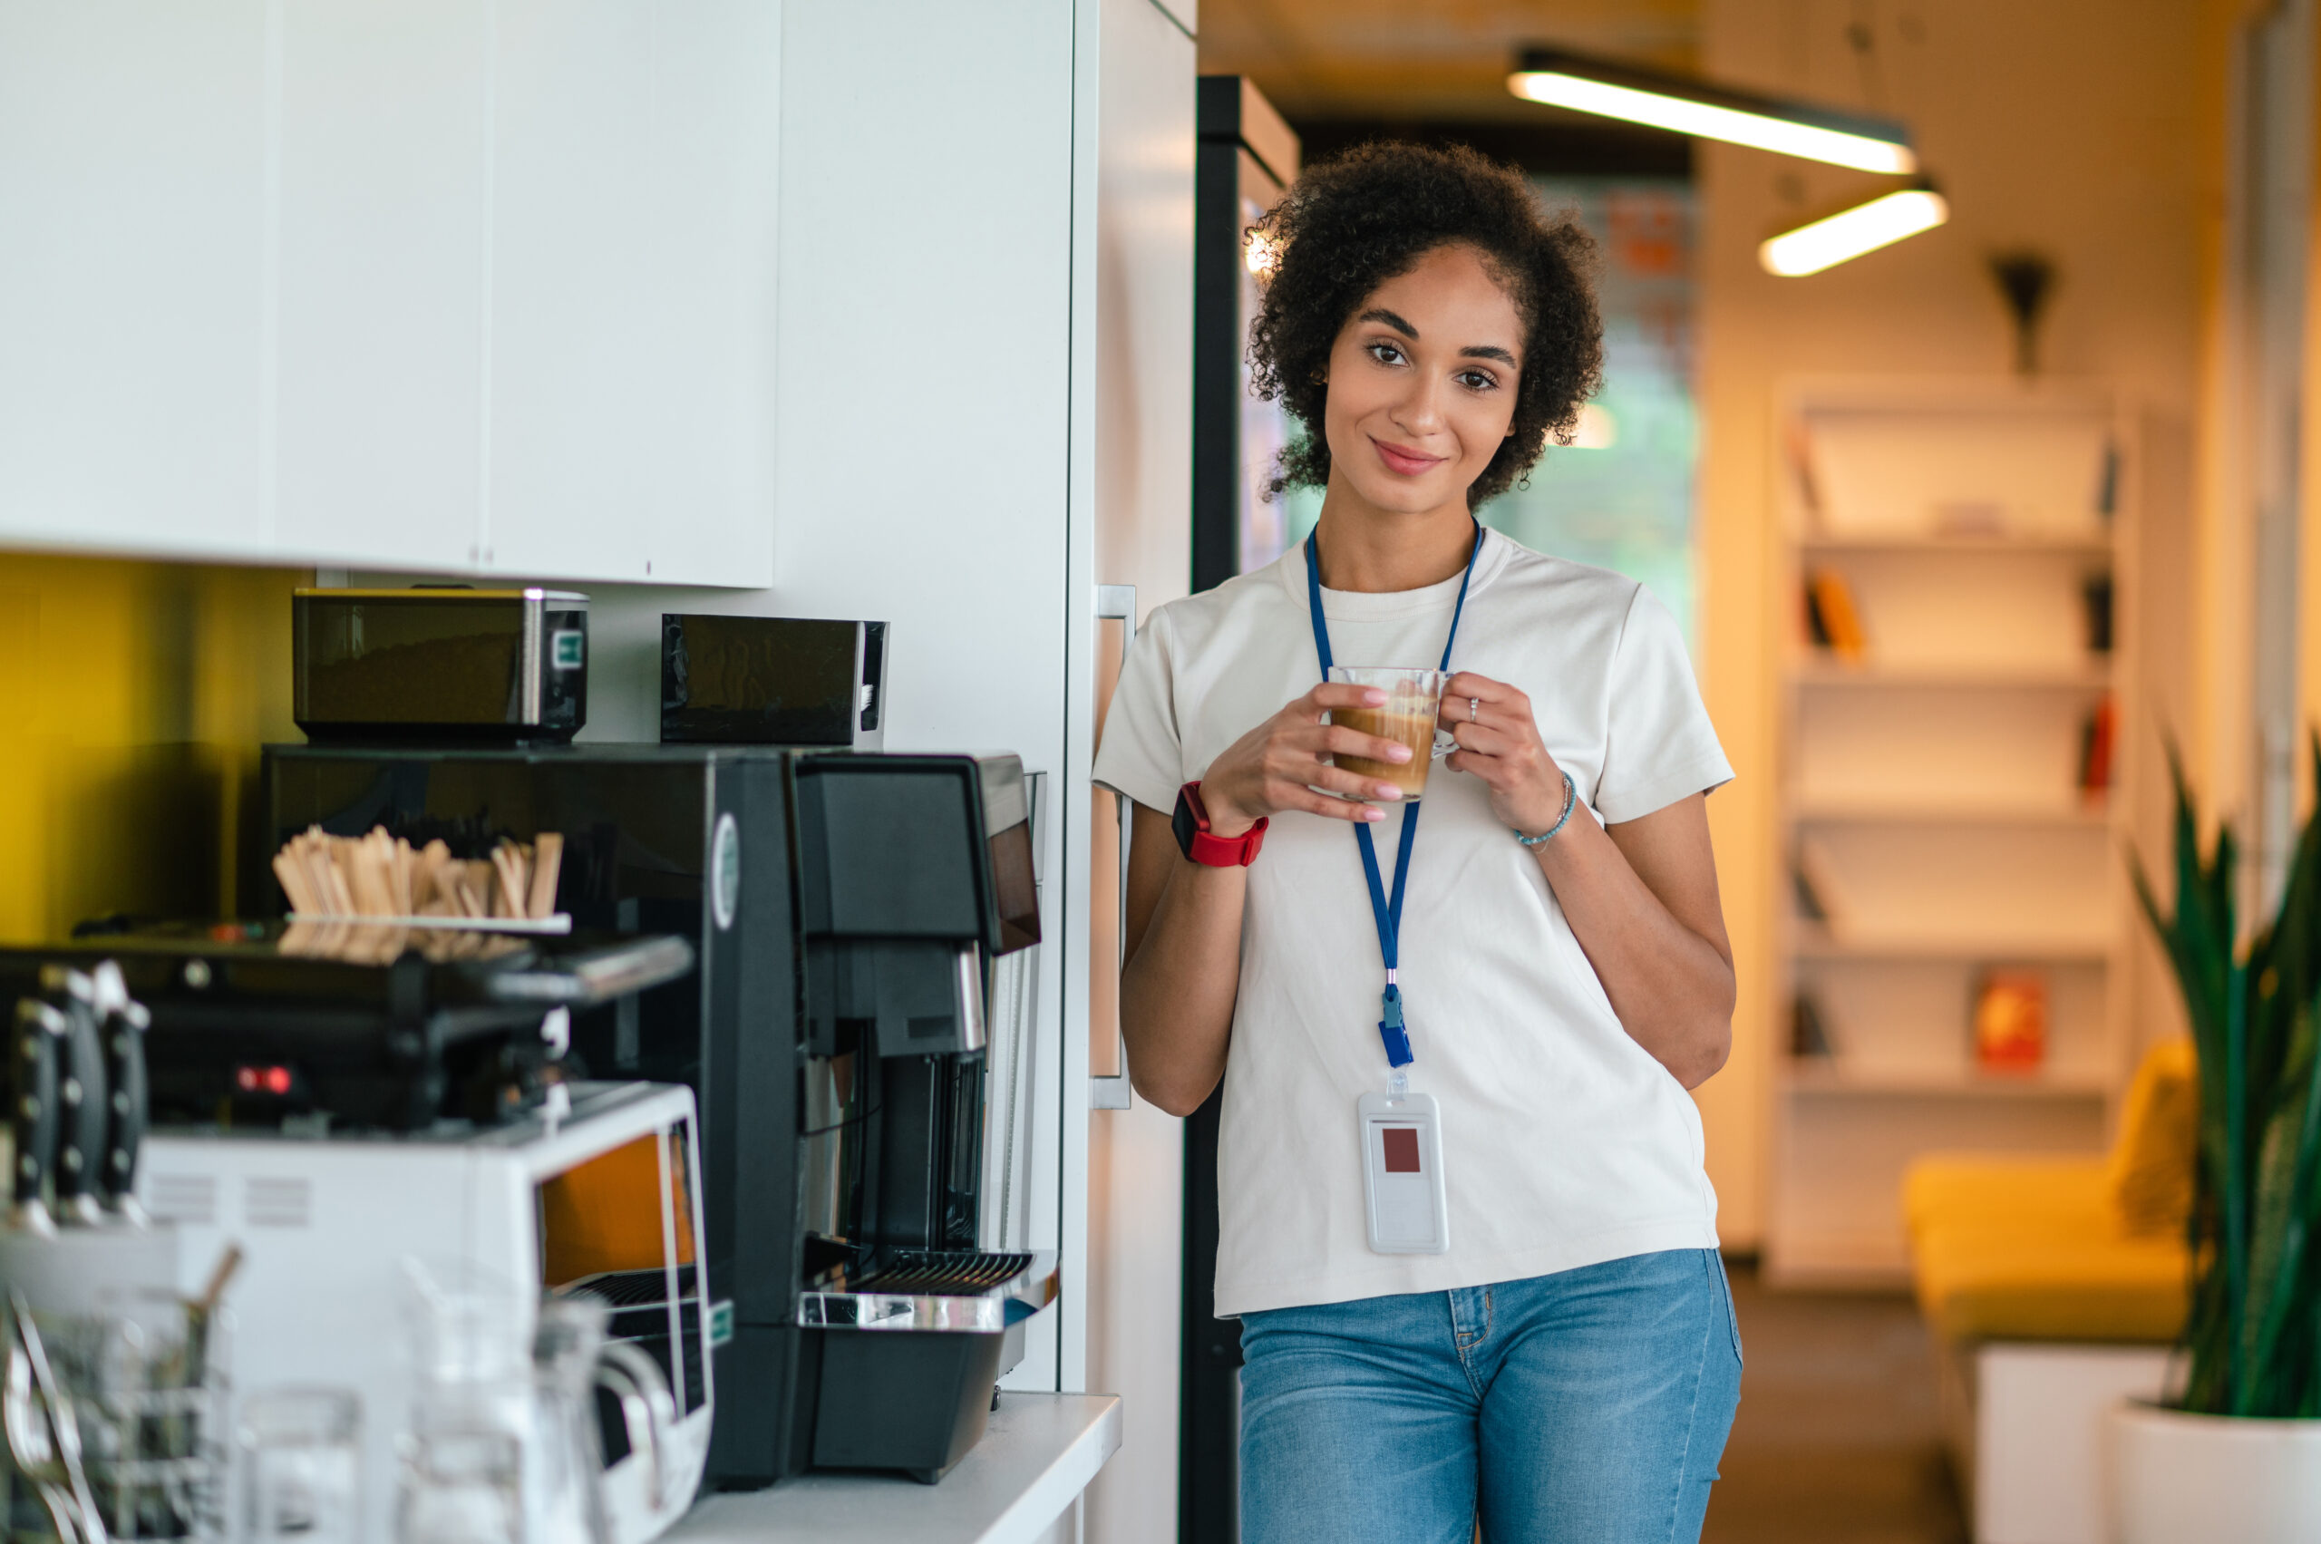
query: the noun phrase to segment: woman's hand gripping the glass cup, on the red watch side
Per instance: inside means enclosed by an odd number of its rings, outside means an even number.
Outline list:
[[[1323,683],[1274,713],[1270,720],[1225,748],[1200,780],[1200,801],[1209,810],[1209,829],[1219,836],[1239,836],[1267,815],[1281,810],[1304,810],[1328,820],[1372,822],[1386,820],[1386,810],[1367,799],[1393,803],[1402,789],[1393,782],[1372,782],[1360,773],[1323,762],[1325,755],[1369,757],[1372,762],[1409,762],[1411,748],[1400,741],[1381,741],[1344,724],[1321,722],[1332,708],[1383,708],[1386,692],[1344,683]],[[1346,794],[1332,799],[1314,789]]]

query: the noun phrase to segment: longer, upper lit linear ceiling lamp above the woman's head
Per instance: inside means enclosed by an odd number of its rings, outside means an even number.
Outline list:
[[[1506,88],[1518,98],[1571,111],[1643,123],[1699,139],[1748,144],[1778,156],[1827,160],[1859,172],[1910,176],[1910,130],[1806,102],[1727,91],[1680,74],[1634,70],[1562,49],[1525,49]]]

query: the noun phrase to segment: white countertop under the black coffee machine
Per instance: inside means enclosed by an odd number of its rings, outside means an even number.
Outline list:
[[[1112,1393],[1000,1393],[991,1428],[940,1484],[908,1474],[803,1474],[703,1495],[673,1544],[1017,1544],[1040,1537],[1121,1446]]]

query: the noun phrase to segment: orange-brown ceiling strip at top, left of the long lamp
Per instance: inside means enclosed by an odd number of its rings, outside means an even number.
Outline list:
[[[1537,123],[1506,93],[1523,44],[1692,70],[1697,35],[1699,0],[1200,0],[1200,70],[1293,121]]]

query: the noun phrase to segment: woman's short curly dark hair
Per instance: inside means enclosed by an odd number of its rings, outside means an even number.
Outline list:
[[[1360,144],[1300,172],[1258,235],[1274,269],[1249,339],[1251,374],[1258,395],[1304,427],[1281,453],[1274,495],[1330,483],[1323,376],[1346,318],[1453,241],[1481,248],[1525,325],[1513,434],[1467,490],[1467,506],[1506,492],[1548,439],[1571,443],[1581,402],[1604,378],[1604,325],[1588,288],[1595,241],[1571,218],[1548,216],[1520,172],[1462,144]]]

